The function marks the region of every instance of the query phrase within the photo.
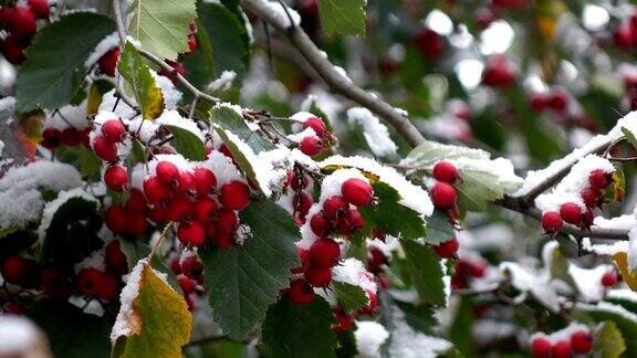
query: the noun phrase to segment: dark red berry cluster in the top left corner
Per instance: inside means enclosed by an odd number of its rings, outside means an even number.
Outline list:
[[[29,0],[25,7],[0,8],[0,30],[9,33],[0,40],[2,55],[12,64],[21,64],[24,50],[38,30],[38,19],[49,19],[49,0]]]

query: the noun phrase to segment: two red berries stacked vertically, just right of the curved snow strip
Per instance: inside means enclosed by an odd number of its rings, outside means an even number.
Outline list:
[[[440,160],[434,166],[432,175],[437,181],[429,190],[431,201],[437,209],[447,212],[449,219],[456,222],[458,192],[453,183],[460,179],[458,168],[450,161]]]

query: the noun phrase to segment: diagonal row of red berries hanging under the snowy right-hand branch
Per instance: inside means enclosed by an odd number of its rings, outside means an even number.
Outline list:
[[[604,203],[604,190],[613,182],[613,175],[602,169],[595,169],[588,175],[588,187],[579,192],[585,209],[575,202],[565,202],[557,211],[546,211],[542,214],[542,228],[546,234],[555,234],[564,222],[589,229],[595,214],[593,209]]]

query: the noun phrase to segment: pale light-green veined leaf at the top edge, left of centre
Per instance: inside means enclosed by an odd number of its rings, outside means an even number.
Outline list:
[[[161,59],[188,52],[189,22],[197,18],[195,0],[136,0],[128,33]]]

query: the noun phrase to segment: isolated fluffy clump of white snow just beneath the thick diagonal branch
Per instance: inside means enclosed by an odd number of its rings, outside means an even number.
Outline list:
[[[365,141],[375,156],[387,157],[397,154],[398,146],[391,140],[389,129],[369,109],[364,107],[349,108],[347,109],[347,118],[351,124],[363,126]]]

